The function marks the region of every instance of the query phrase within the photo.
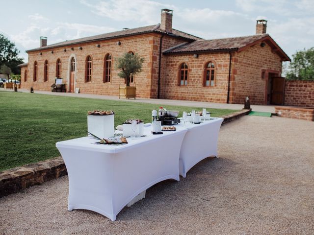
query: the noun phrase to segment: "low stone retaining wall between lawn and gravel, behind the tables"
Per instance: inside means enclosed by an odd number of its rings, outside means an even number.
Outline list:
[[[231,122],[249,113],[250,110],[242,110],[231,115],[223,116],[224,121],[222,124]],[[0,172],[0,197],[22,191],[34,185],[40,185],[66,174],[67,169],[62,157],[2,171]]]

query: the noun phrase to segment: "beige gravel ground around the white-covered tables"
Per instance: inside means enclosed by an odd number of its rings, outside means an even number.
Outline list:
[[[0,199],[2,234],[314,234],[314,122],[246,116],[219,157],[164,181],[117,221],[67,211],[68,178]]]

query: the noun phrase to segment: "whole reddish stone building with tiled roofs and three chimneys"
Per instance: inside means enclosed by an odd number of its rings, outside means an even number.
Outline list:
[[[161,23],[85,37],[27,50],[21,66],[22,88],[51,90],[62,78],[67,92],[118,95],[124,79],[114,69],[125,52],[145,59],[131,79],[136,97],[243,103],[283,103],[282,62],[288,55],[257,21],[256,35],[204,40],[172,28],[172,11]]]

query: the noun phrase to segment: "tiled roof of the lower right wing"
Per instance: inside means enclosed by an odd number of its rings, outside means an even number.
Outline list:
[[[284,61],[290,61],[288,55],[278,46],[278,44],[268,34],[257,34],[245,37],[223,38],[213,40],[197,40],[183,43],[176,47],[171,47],[163,54],[173,53],[197,53],[197,52],[219,52],[219,51],[241,51],[248,46],[253,46],[258,42],[267,43]]]

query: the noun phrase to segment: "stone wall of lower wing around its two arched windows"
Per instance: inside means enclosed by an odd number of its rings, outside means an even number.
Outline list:
[[[216,66],[215,85],[204,86],[204,70],[208,62]],[[179,85],[182,63],[188,66],[187,86]],[[165,56],[165,75],[161,98],[226,103],[229,75],[228,53],[204,53],[195,58],[193,54]]]

